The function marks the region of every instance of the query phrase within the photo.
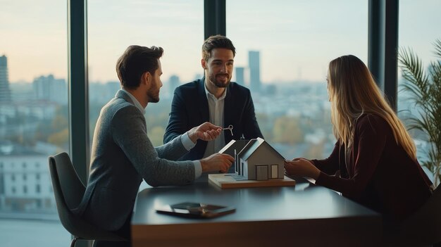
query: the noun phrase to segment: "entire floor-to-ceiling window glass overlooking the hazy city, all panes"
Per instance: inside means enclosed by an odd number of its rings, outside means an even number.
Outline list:
[[[1,245],[64,246],[70,234],[58,221],[47,157],[69,150],[67,3],[0,0],[0,6]],[[162,46],[161,101],[146,114],[149,137],[162,144],[173,90],[203,74],[204,1],[87,6],[91,137],[99,110],[119,89],[118,57],[131,44]],[[414,49],[426,65],[441,38],[439,9],[437,0],[399,1],[399,46]],[[233,80],[251,89],[265,139],[285,158],[328,156],[335,141],[328,62],[350,53],[367,63],[368,1],[228,0],[226,16],[237,48]],[[404,96],[398,109],[405,120],[414,109]],[[421,156],[425,137],[412,134]]]

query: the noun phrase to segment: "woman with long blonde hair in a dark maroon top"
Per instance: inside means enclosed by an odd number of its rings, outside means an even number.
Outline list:
[[[359,58],[330,61],[327,81],[335,148],[324,160],[287,160],[287,174],[311,177],[388,218],[404,219],[432,194],[414,141]]]

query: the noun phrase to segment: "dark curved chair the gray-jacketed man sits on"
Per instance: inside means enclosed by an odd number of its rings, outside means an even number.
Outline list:
[[[86,222],[71,211],[80,204],[85,194],[85,185],[77,176],[67,153],[49,156],[49,172],[54,188],[56,208],[63,227],[73,235],[70,247],[78,239],[103,241],[128,241],[113,232],[107,232]]]

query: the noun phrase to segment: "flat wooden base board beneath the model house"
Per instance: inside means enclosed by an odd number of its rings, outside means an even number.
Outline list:
[[[294,186],[294,179],[286,177],[284,179],[269,180],[236,180],[231,174],[209,174],[209,182],[216,184],[222,189],[247,188],[247,187],[268,187],[268,186]]]

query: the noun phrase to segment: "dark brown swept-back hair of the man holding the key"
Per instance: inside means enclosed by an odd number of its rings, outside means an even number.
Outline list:
[[[142,74],[150,72],[151,75],[159,68],[158,59],[161,58],[163,49],[151,46],[129,46],[116,62],[116,73],[123,87],[136,89],[139,87]]]

